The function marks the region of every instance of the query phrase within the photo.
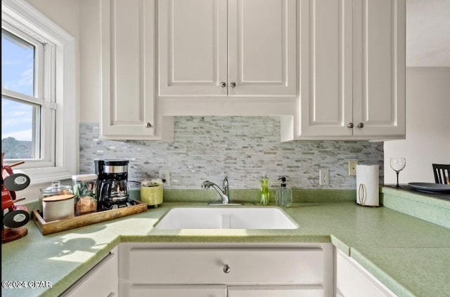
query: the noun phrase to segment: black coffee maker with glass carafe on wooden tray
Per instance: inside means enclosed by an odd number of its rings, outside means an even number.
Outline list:
[[[98,175],[98,211],[134,205],[129,199],[128,160],[94,160]]]

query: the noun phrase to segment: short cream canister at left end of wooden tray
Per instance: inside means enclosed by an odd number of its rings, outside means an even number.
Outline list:
[[[42,199],[44,220],[63,220],[74,217],[74,196],[72,194],[57,195]]]

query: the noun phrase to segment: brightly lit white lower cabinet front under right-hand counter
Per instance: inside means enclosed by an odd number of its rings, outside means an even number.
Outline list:
[[[355,260],[336,250],[336,296],[396,296]]]

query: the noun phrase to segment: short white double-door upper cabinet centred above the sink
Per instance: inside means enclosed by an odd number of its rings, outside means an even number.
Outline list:
[[[297,95],[295,0],[158,2],[159,95]]]

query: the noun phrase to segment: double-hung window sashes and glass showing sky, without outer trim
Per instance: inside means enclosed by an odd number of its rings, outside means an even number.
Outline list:
[[[43,85],[44,72],[39,70],[44,47],[27,34],[2,24],[1,152],[6,159],[45,159],[44,149],[54,150],[54,141],[41,141],[44,138],[40,127],[45,121],[42,102],[46,98],[42,98],[39,87]],[[54,129],[54,123],[50,124]]]

